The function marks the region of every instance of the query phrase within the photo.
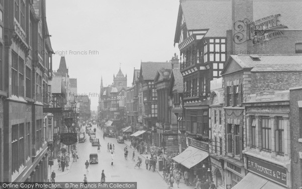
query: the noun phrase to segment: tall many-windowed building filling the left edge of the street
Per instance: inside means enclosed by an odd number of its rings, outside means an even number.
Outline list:
[[[45,7],[44,0],[0,2],[1,181],[47,181],[47,143],[41,138],[53,50]]]

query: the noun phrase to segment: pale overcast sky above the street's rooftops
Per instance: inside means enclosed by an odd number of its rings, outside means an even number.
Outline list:
[[[90,93],[91,109],[97,110],[101,76],[105,86],[111,84],[120,63],[131,86],[140,61],[169,61],[179,54],[173,46],[178,9],[177,0],[48,0],[52,68],[58,69],[63,54],[78,93]]]

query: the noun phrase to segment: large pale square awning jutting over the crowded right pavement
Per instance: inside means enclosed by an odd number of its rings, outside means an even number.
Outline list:
[[[207,158],[209,154],[203,150],[198,148],[189,146],[185,151],[183,151],[178,156],[174,157],[173,160],[187,167],[188,169],[197,165],[205,158]]]

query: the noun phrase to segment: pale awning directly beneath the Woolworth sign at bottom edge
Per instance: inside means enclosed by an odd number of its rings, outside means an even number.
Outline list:
[[[261,176],[258,176],[257,174],[254,174],[252,172],[249,172],[238,184],[232,187],[232,189],[285,189],[286,187],[283,187],[279,184],[276,184],[275,182],[272,182],[266,178],[263,178]]]

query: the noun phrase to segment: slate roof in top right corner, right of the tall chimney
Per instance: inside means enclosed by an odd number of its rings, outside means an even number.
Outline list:
[[[287,26],[289,30],[302,29],[302,3],[300,0],[253,0],[253,21],[280,14],[280,24]]]

